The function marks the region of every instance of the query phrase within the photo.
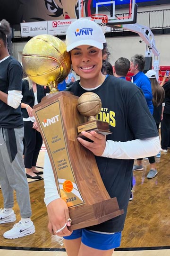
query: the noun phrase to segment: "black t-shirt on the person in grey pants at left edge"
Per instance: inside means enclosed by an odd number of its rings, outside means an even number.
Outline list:
[[[12,56],[0,63],[0,91],[22,91],[22,66]],[[14,109],[0,101],[0,128],[23,127],[21,106]]]

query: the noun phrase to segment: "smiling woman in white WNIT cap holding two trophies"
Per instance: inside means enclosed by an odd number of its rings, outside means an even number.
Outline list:
[[[78,35],[77,31],[80,31]],[[102,29],[91,20],[80,18],[68,27],[67,51],[71,54],[72,67],[80,80],[67,90],[76,96],[92,91],[102,100],[99,115],[102,120],[105,116],[109,118],[112,134],[105,137],[94,131],[82,132],[93,143],[77,139],[95,155],[110,197],[117,197],[119,207],[125,213],[102,224],[70,232],[67,228],[71,225],[68,207],[57,195],[54,175],[46,155],[44,200],[49,217],[48,228],[51,233],[64,237],[68,256],[111,256],[114,248],[119,247],[130,195],[133,159],[146,155],[146,150],[149,155],[157,154],[160,147],[155,122],[141,91],[131,82],[102,74],[102,49],[105,43]]]

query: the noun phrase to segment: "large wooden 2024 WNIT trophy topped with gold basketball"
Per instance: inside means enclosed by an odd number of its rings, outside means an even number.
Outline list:
[[[67,77],[71,67],[65,44],[50,35],[33,37],[24,47],[22,62],[34,82],[50,88],[50,94],[34,106],[34,116],[60,197],[68,205],[72,219],[69,229],[96,225],[123,214],[117,199],[110,199],[105,189],[93,153],[77,141],[76,127],[85,122],[77,110],[78,97],[57,92],[58,82]]]

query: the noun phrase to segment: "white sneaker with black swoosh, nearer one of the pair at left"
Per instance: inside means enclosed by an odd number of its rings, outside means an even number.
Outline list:
[[[3,234],[4,238],[15,239],[22,238],[35,233],[35,227],[33,221],[30,221],[30,226],[24,225],[24,223],[19,220],[12,229],[8,230]]]

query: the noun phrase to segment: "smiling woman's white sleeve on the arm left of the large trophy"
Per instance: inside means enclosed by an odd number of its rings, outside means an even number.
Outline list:
[[[50,163],[50,158],[47,152],[45,152],[43,176],[45,189],[44,202],[46,205],[48,205],[51,201],[60,198],[60,196],[56,187],[54,174]]]

